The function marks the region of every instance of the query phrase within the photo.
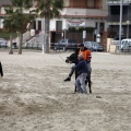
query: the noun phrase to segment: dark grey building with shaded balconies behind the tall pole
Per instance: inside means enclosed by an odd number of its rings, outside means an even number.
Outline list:
[[[120,24],[120,0],[109,0],[108,2],[108,36],[118,40]],[[122,38],[131,37],[131,0],[122,2]]]

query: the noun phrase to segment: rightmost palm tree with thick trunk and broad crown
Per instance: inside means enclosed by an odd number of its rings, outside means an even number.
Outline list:
[[[59,17],[60,11],[63,9],[63,0],[37,0],[37,12],[45,17],[46,43],[44,44],[44,52],[49,53],[49,24],[50,19]]]

